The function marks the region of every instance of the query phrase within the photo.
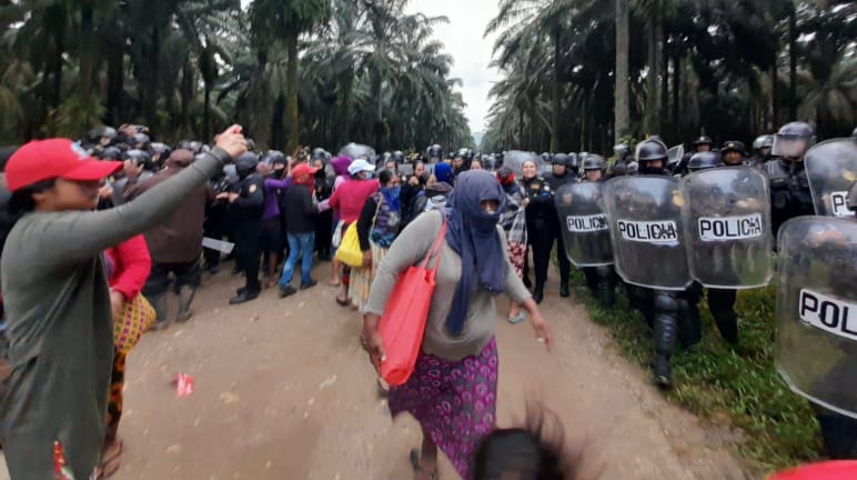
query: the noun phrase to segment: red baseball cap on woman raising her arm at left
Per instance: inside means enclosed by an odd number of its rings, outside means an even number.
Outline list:
[[[33,140],[19,148],[6,164],[9,191],[17,191],[42,180],[95,181],[122,167],[119,161],[100,161],[69,139]]]

